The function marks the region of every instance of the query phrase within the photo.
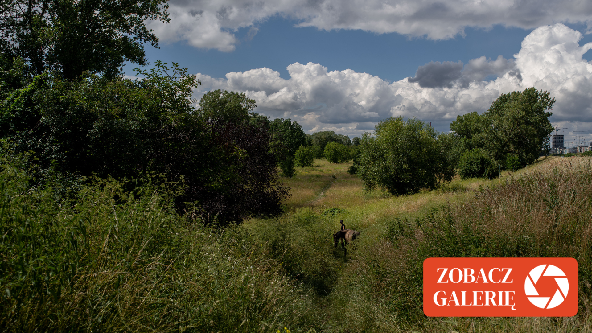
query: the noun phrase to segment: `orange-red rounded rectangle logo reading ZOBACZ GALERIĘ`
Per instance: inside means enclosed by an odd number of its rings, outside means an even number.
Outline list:
[[[426,316],[575,316],[574,258],[427,258]]]

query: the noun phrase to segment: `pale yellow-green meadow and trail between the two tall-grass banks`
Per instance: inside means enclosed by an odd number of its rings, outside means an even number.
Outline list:
[[[413,220],[442,205],[463,203],[475,197],[482,188],[504,184],[507,179],[532,172],[554,159],[557,158],[543,158],[513,174],[504,172],[495,180],[461,180],[456,177],[439,190],[398,197],[382,191],[364,191],[357,175],[346,172],[351,164],[329,164],[326,160],[316,160],[314,167],[298,168],[295,177],[283,179],[284,184],[291,187],[291,197],[285,201],[287,213],[284,216],[278,220],[252,219],[244,223],[244,228],[260,232],[272,228],[283,232],[293,230],[296,235],[292,237],[299,238],[294,251],[301,251],[310,257],[301,262],[301,266],[309,268],[308,271],[318,270],[319,276],[311,278],[308,283],[314,287],[311,292],[316,292],[313,305],[320,320],[317,328],[323,332],[349,332],[351,328],[345,329],[340,324],[347,319],[343,309],[350,302],[343,291],[344,287],[347,288],[345,280],[356,267],[368,264],[366,261],[369,258],[377,257],[377,244],[384,238],[390,221],[395,217]],[[322,218],[311,223],[310,216]],[[345,221],[346,228],[361,232],[360,238],[348,246],[347,255],[340,246],[333,247],[331,234],[339,230],[340,219]],[[290,249],[283,251],[282,255],[285,255]],[[298,269],[301,268],[292,270]]]

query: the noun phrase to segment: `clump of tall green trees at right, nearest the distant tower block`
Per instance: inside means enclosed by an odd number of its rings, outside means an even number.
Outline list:
[[[549,122],[555,99],[547,91],[527,88],[501,94],[481,116],[476,112],[456,117],[450,129],[458,136],[457,152],[479,148],[487,152],[497,164],[508,168],[506,160],[512,157],[511,167],[525,167],[549,153]]]

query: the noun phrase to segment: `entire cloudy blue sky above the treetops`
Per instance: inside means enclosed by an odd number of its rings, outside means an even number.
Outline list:
[[[556,99],[566,141],[592,141],[592,2],[528,0],[173,0],[147,21],[149,61],[244,92],[256,112],[307,133],[360,136],[391,116],[448,132],[500,94],[535,87]],[[135,65],[124,71],[134,75]]]

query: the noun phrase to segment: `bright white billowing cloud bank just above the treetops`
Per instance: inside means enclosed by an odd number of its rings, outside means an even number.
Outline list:
[[[556,98],[554,124],[585,131],[592,130],[592,64],[582,56],[592,43],[580,46],[581,37],[564,24],[545,25],[526,36],[513,59],[430,62],[415,78],[392,83],[351,69],[329,72],[318,63],[289,65],[289,79],[269,68],[230,72],[226,78],[198,73],[198,78],[207,89],[245,92],[257,101],[259,113],[291,117],[308,133],[360,135],[390,116],[417,117],[447,130],[458,114],[481,113],[500,94],[529,87]],[[202,94],[196,92],[198,98]]]

